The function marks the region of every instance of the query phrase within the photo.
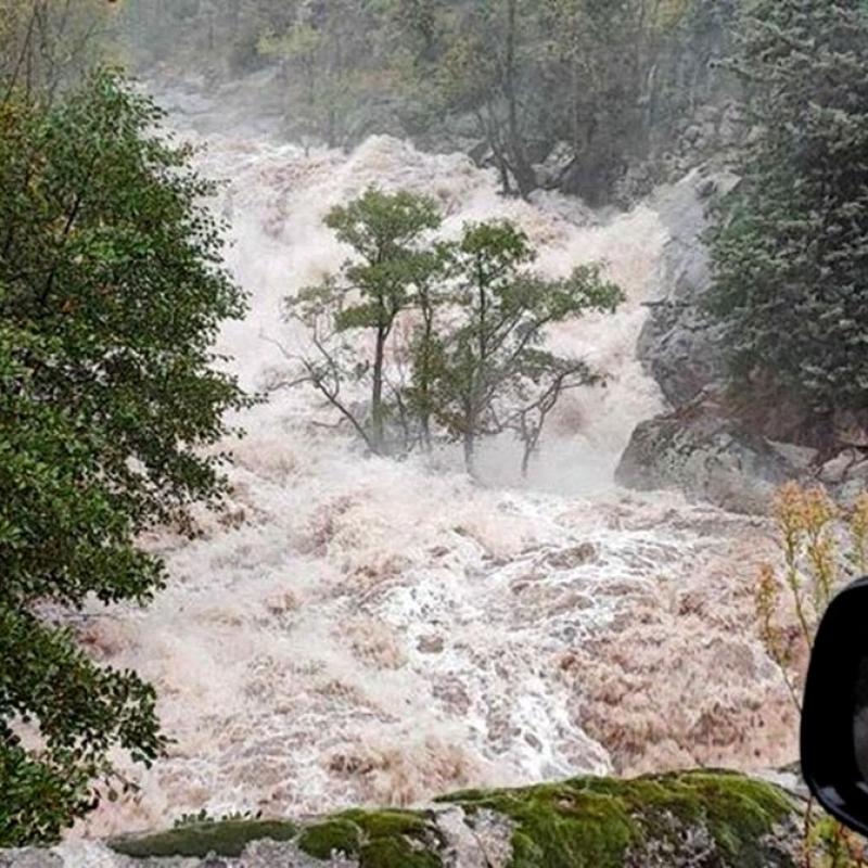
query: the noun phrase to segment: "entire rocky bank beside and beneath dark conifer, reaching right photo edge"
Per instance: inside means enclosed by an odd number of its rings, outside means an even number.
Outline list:
[[[697,170],[652,199],[669,240],[637,352],[671,409],[636,429],[616,478],[745,513],[766,511],[788,480],[852,501],[868,485],[868,414],[812,421],[799,403],[755,396],[738,410],[727,406],[724,328],[705,312],[712,275],[703,234],[715,199],[737,183],[728,173]]]

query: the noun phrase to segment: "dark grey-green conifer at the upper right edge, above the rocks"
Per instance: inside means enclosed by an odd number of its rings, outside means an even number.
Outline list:
[[[735,66],[760,133],[712,239],[733,383],[820,422],[868,409],[867,14],[859,0],[746,7]]]

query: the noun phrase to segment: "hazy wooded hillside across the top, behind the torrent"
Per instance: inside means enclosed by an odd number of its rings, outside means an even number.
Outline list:
[[[506,191],[557,186],[599,203],[634,192],[631,167],[644,191],[664,177],[702,112],[705,145],[717,141],[730,84],[713,62],[736,5],[129,0],[125,21],[149,68],[220,77],[278,64],[295,137],[346,146],[386,131],[474,148]]]

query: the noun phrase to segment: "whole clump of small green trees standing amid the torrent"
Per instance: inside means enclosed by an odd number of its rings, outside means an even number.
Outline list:
[[[433,235],[434,203],[408,192],[369,190],[332,209],[327,225],[355,252],[340,276],[288,299],[314,352],[292,356],[301,373],[276,385],[309,383],[383,454],[387,422],[403,447],[431,448],[436,433],[463,443],[473,471],[480,437],[512,431],[524,470],[562,394],[603,378],[545,347],[547,328],[588,311],[613,311],[622,291],[599,264],[561,280],[531,270],[527,237],[510,222],[464,228],[458,241]],[[372,357],[359,361],[359,333]],[[370,385],[370,407],[354,408],[344,385]],[[435,425],[438,432],[435,432]]]

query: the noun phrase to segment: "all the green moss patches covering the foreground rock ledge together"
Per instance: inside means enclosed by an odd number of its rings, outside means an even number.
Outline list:
[[[728,773],[577,778],[521,790],[474,790],[441,801],[460,805],[471,824],[482,809],[508,817],[514,825],[510,868],[660,865],[661,853],[691,855],[685,842],[695,834],[688,831],[704,832],[700,838],[714,846],[718,868],[792,864],[766,842],[776,826],[793,816],[789,796]],[[302,851],[322,860],[343,853],[361,868],[442,868],[438,854],[445,846],[436,817],[414,810],[345,810],[301,833],[289,822],[194,824],[111,845],[139,857],[237,857],[251,841],[264,838],[297,839]]]

